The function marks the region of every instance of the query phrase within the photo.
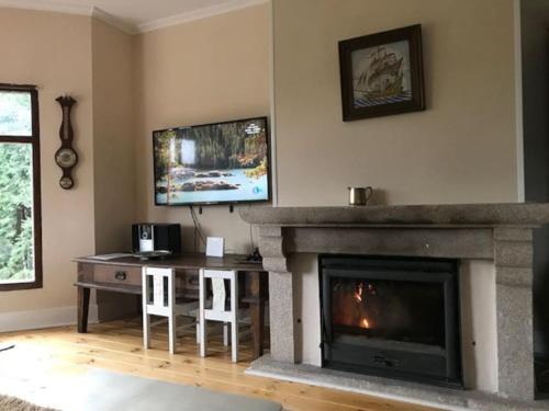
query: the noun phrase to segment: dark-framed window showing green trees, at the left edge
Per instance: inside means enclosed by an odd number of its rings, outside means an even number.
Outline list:
[[[0,84],[0,290],[42,287],[38,93]]]

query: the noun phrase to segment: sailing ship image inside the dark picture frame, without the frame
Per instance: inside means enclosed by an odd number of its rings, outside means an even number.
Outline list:
[[[352,91],[356,107],[412,99],[408,42],[396,42],[352,53]]]

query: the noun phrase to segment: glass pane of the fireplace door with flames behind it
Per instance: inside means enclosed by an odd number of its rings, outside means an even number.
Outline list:
[[[343,273],[341,273],[343,274]],[[335,341],[374,344],[392,341],[445,346],[444,285],[333,276],[330,322]]]

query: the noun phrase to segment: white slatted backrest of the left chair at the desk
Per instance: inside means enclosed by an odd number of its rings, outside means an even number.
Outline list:
[[[176,306],[173,269],[143,267],[143,309],[150,315],[168,316]]]

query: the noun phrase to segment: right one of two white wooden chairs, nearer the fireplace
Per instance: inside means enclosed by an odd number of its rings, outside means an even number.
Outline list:
[[[212,308],[206,306],[206,281],[212,282]],[[226,310],[226,292],[224,281],[228,279],[231,290],[231,308]],[[231,324],[231,350],[232,359],[238,362],[238,272],[233,270],[200,270],[200,306],[199,306],[199,329],[200,329],[200,355],[206,355],[208,349],[208,323],[206,321],[223,322],[223,343],[228,343],[227,324]]]

